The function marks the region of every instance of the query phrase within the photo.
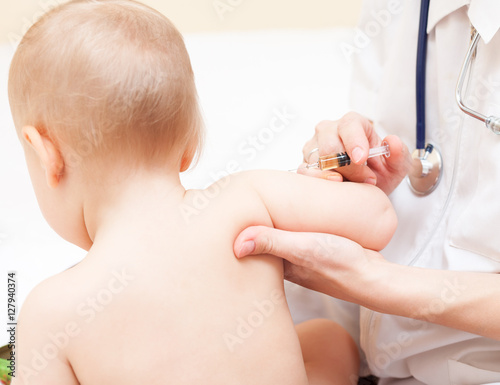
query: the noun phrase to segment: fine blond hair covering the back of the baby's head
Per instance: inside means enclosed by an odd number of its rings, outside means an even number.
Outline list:
[[[186,169],[202,123],[181,34],[130,0],[75,0],[46,14],[12,61],[18,132],[51,138],[66,167]]]

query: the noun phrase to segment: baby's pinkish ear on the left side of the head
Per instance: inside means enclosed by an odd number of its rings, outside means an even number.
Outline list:
[[[36,127],[24,126],[23,139],[30,145],[38,156],[45,171],[45,179],[50,188],[56,188],[64,173],[64,159],[56,144]]]

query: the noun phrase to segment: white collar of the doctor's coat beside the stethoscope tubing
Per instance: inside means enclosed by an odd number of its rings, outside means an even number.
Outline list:
[[[468,16],[487,44],[500,29],[500,1],[498,0],[431,0],[427,33],[436,24],[457,9],[469,5]]]

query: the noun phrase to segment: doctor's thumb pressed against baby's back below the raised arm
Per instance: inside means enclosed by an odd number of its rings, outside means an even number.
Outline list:
[[[286,240],[288,233],[266,226],[253,226],[243,230],[234,241],[234,255],[243,258],[248,255],[272,254],[288,259]]]

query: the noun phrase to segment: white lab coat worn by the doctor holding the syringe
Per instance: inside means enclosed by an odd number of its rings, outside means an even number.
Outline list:
[[[391,194],[399,227],[382,254],[400,264],[499,273],[500,136],[462,113],[454,95],[472,23],[482,41],[466,104],[500,115],[500,1],[432,0],[430,7],[427,141],[441,150],[444,172],[430,196],[415,196],[406,181]],[[381,136],[399,135],[410,151],[419,14],[419,1],[368,0],[354,40],[342,47],[353,65],[351,108],[373,120]],[[443,282],[429,309],[439,313],[467,290],[473,288]],[[381,384],[500,384],[499,341],[367,309],[360,330]]]

